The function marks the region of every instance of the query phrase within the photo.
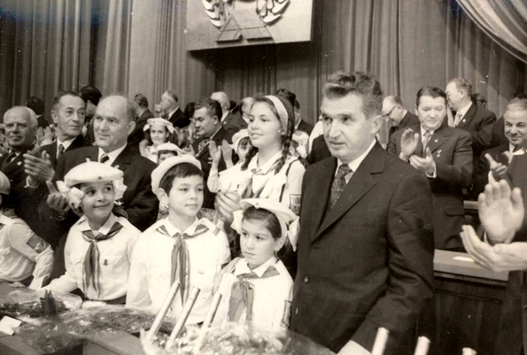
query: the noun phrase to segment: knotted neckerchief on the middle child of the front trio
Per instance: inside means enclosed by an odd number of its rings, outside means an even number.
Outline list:
[[[204,224],[199,224],[194,230],[194,234],[188,235],[186,233],[176,233],[170,235],[165,226],[161,226],[158,232],[162,235],[167,235],[175,238],[174,248],[172,249],[171,258],[171,272],[170,272],[170,285],[174,284],[175,281],[180,283],[180,293],[182,297],[182,305],[189,299],[189,283],[190,283],[190,259],[189,259],[189,247],[185,239],[195,238],[198,235],[203,235],[208,231],[208,228]]]

